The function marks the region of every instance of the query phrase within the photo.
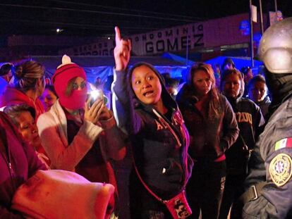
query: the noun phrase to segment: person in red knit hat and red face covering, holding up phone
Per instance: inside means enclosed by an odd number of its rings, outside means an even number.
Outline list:
[[[37,120],[51,168],[116,186],[109,158],[121,159],[126,151],[113,114],[100,99],[92,106],[90,99],[86,101],[85,71],[68,56],[63,56],[52,82],[59,99]]]

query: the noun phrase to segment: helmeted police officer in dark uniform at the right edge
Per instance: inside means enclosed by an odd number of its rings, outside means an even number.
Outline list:
[[[258,51],[272,94],[245,181],[243,218],[292,218],[292,18],[269,27]]]

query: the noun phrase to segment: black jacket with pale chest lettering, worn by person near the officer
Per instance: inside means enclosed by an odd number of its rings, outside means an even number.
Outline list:
[[[230,174],[242,174],[246,170],[248,150],[255,147],[261,127],[264,125],[264,117],[260,107],[250,99],[238,97],[228,100],[236,114],[239,136],[233,146],[226,151],[227,169]]]

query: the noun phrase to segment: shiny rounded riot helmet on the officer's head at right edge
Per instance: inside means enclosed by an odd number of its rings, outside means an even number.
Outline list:
[[[270,73],[292,73],[292,17],[275,23],[264,32],[257,57]]]

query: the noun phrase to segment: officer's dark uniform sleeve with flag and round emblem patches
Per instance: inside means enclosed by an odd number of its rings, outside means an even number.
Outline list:
[[[285,147],[278,149],[279,144]],[[245,204],[243,218],[292,218],[291,158],[292,96],[273,113],[250,157],[249,166],[253,169],[246,184],[268,184],[260,197]]]

